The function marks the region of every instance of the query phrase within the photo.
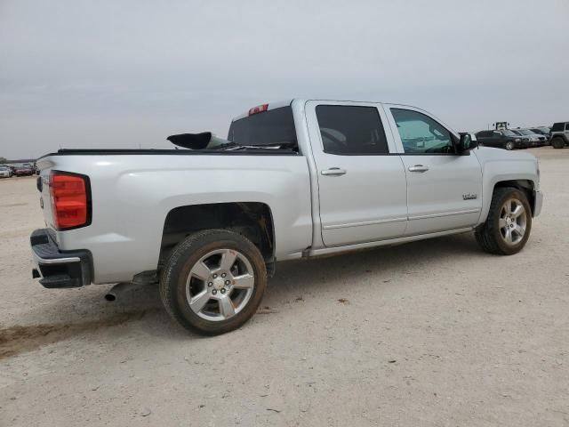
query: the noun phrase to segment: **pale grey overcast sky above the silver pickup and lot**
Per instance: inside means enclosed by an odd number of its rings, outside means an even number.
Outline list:
[[[0,0],[0,156],[168,148],[293,97],[569,120],[569,1]]]

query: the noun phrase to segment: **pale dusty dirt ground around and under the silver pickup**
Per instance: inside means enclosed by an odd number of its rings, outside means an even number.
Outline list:
[[[0,181],[0,425],[569,425],[569,149],[521,254],[470,235],[279,264],[240,330],[188,334],[156,289],[47,290],[34,178]]]

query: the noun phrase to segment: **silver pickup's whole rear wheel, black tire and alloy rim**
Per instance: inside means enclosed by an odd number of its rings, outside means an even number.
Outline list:
[[[257,246],[228,230],[204,230],[174,248],[160,296],[181,326],[217,335],[242,326],[259,307],[267,270]]]

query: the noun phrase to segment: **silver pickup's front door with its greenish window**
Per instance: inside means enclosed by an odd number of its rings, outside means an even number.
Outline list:
[[[424,111],[386,106],[407,177],[409,223],[405,234],[476,225],[482,208],[477,157],[455,154],[456,135]]]

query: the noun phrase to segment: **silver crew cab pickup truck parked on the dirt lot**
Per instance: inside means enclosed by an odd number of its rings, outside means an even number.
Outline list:
[[[276,262],[474,231],[516,254],[540,214],[538,162],[477,148],[381,102],[293,100],[186,149],[64,149],[37,161],[45,287],[156,283],[182,326],[221,334],[257,310]],[[357,284],[354,284],[357,286]]]

